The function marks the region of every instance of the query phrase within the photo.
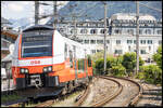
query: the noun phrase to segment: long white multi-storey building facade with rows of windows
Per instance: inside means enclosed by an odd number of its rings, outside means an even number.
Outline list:
[[[70,26],[60,26],[61,32],[71,38],[77,38],[85,44],[89,54],[103,50],[104,23],[67,22]],[[63,30],[64,29],[64,30]],[[139,16],[139,54],[143,60],[152,59],[158,46],[162,44],[162,21],[156,21],[148,14]],[[136,15],[118,13],[108,18],[106,53],[122,55],[136,52]]]

